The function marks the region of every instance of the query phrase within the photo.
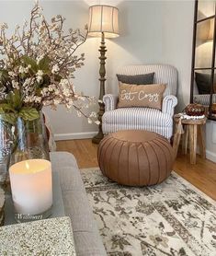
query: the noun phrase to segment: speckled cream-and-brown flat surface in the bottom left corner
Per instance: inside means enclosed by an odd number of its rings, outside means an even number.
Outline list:
[[[76,255],[65,216],[0,227],[0,241],[0,255]]]

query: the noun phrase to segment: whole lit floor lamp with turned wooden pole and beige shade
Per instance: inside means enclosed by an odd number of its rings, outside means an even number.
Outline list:
[[[98,126],[98,134],[92,139],[92,142],[98,144],[104,137],[102,131],[102,116],[105,111],[103,103],[103,97],[105,95],[105,81],[106,81],[106,45],[105,38],[115,38],[119,36],[119,10],[113,6],[90,6],[89,7],[89,24],[88,24],[88,35],[93,37],[101,37],[100,43],[100,68],[99,68],[99,81],[100,81],[100,92],[99,92],[99,111],[97,118],[100,122]]]

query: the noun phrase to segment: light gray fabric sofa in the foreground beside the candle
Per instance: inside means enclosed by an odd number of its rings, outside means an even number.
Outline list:
[[[51,164],[53,171],[59,173],[64,211],[72,220],[77,256],[107,255],[74,156],[66,152],[53,152]]]

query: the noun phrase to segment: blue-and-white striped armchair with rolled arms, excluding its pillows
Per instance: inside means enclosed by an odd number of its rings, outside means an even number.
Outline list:
[[[130,65],[121,67],[118,74],[140,75],[154,72],[155,84],[166,84],[162,111],[150,108],[119,108],[118,96],[104,96],[105,113],[102,117],[104,134],[119,130],[147,130],[165,136],[173,134],[173,115],[177,104],[177,71],[168,64]]]

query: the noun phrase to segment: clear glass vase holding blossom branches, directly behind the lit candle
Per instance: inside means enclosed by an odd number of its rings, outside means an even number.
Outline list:
[[[50,160],[46,128],[41,111],[40,118],[33,121],[17,118],[10,165],[27,159]]]

